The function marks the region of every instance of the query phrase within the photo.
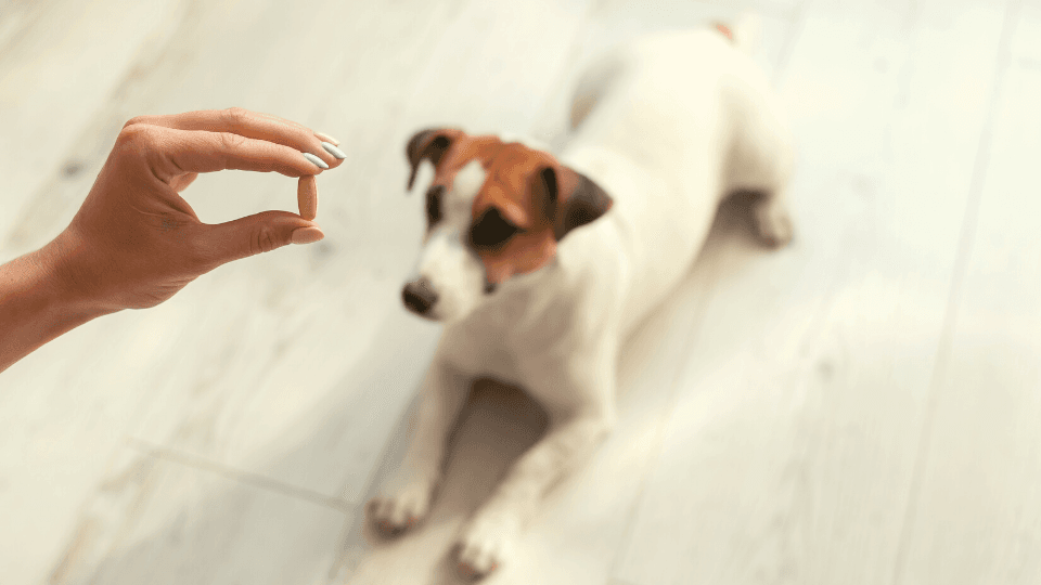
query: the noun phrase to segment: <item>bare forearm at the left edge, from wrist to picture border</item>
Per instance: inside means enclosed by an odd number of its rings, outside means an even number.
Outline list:
[[[55,242],[0,265],[0,373],[105,311],[79,300],[57,270]]]

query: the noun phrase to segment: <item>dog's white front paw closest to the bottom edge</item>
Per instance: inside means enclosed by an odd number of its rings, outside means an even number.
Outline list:
[[[459,573],[470,580],[487,576],[513,551],[519,523],[509,515],[478,515],[455,544]]]

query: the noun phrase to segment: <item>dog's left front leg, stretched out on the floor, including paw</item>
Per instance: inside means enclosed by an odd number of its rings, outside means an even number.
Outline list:
[[[470,378],[436,359],[426,373],[420,407],[410,424],[412,441],[401,466],[369,503],[369,515],[388,533],[413,526],[429,511],[444,472],[445,452],[470,391]]]

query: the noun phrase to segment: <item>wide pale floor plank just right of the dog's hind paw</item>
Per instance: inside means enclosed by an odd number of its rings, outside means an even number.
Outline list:
[[[616,577],[891,578],[1003,18],[949,8],[806,9],[798,240],[720,274]]]

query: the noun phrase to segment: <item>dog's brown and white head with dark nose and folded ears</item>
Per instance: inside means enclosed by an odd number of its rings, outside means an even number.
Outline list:
[[[417,132],[406,148],[412,173],[434,167],[426,235],[402,299],[416,314],[459,321],[498,285],[544,266],[556,244],[600,218],[612,199],[550,154],[457,129]]]

